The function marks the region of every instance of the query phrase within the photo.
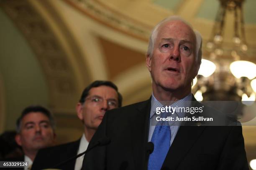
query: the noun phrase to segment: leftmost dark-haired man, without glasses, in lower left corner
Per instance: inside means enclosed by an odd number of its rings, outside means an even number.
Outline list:
[[[54,119],[46,108],[29,106],[22,111],[16,126],[15,141],[21,146],[24,155],[8,158],[5,161],[26,161],[28,166],[18,169],[27,170],[31,168],[39,149],[54,145],[56,138]]]

